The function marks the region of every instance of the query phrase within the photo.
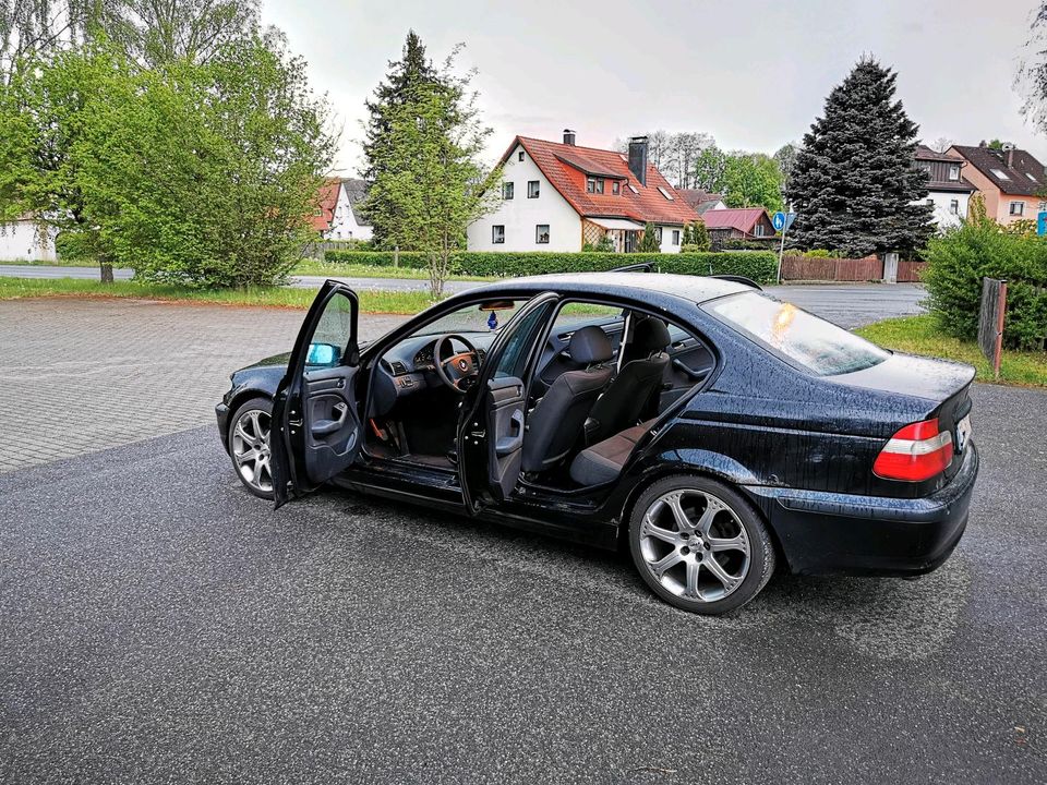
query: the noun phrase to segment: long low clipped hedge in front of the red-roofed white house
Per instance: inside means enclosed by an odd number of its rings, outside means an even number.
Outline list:
[[[392,267],[392,251],[328,251],[327,262]],[[457,275],[524,276],[545,273],[599,273],[625,265],[653,263],[662,273],[684,275],[739,275],[758,283],[774,281],[778,255],[769,251],[744,253],[678,253],[678,254],[619,254],[619,253],[541,253],[541,252],[479,252],[461,251],[452,254],[450,268]],[[401,251],[399,265],[424,269],[424,253]]]

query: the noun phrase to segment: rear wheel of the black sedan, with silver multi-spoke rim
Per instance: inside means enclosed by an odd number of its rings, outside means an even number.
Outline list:
[[[691,613],[735,611],[774,572],[774,545],[759,512],[736,490],[703,476],[676,474],[647,488],[628,538],[643,582]]]

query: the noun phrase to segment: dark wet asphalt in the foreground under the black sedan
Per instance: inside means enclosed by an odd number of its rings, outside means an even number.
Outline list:
[[[974,396],[940,570],[723,619],[496,526],[274,512],[209,427],[0,475],[0,782],[1043,783],[1047,395]]]

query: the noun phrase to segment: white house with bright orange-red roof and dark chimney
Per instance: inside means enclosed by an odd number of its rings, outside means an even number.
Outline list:
[[[629,140],[627,155],[517,136],[502,156],[497,208],[469,226],[470,251],[581,251],[603,238],[633,251],[648,222],[663,253],[677,253],[684,226],[700,220],[648,161],[647,137]]]

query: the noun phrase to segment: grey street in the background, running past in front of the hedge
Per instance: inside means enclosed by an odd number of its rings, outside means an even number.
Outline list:
[[[132,270],[117,269],[118,280],[129,280]],[[0,265],[0,276],[24,278],[81,278],[97,279],[94,267],[37,267],[31,265]],[[291,286],[318,289],[326,280],[323,276],[299,276]],[[339,277],[354,289],[386,289],[393,291],[418,291],[429,289],[428,280],[408,278],[346,278]],[[460,292],[482,286],[478,281],[447,281],[448,292]],[[833,283],[814,286],[766,287],[775,297],[787,300],[817,313],[837,324],[852,329],[892,316],[907,316],[923,312],[919,301],[925,297],[923,287],[914,283],[886,286],[881,283]]]

